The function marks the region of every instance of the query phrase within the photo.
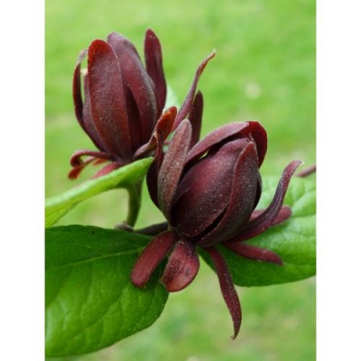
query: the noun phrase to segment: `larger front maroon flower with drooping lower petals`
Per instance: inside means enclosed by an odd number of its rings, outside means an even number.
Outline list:
[[[221,126],[195,143],[192,126],[184,120],[167,153],[163,153],[162,141],[158,143],[147,175],[151,197],[170,228],[144,249],[134,264],[132,282],[143,287],[155,267],[170,254],[162,282],[169,292],[180,291],[197,275],[196,247],[202,247],[215,264],[234,322],[234,338],[241,325],[241,308],[216,245],[246,258],[282,264],[272,251],[244,241],[291,216],[291,209],[283,207],[282,202],[292,174],[301,164],[294,161],[285,168],[270,206],[255,211],[262,192],[259,168],[266,150],[267,134],[257,122]]]

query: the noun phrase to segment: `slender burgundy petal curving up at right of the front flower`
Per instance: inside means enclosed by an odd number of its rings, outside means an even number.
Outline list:
[[[290,184],[292,174],[301,164],[301,161],[293,161],[287,165],[282,172],[281,180],[278,183],[271,204],[258,217],[250,220],[238,236],[235,236],[231,242],[245,241],[263,233],[267,228],[273,225],[273,222],[278,217],[281,209],[284,196]]]

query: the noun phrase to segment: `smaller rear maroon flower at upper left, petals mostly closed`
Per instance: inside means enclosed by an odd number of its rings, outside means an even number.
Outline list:
[[[83,76],[82,94],[80,65],[87,54],[88,69]],[[162,133],[165,139],[175,125],[189,115],[199,76],[213,56],[214,53],[210,54],[199,65],[177,116],[175,108],[162,114],[167,87],[161,44],[152,30],[145,32],[145,67],[133,43],[123,35],[112,32],[106,42],[91,42],[88,51],[82,51],[77,62],[73,99],[79,125],[98,151],[74,153],[69,178],[77,178],[90,162],[111,162],[97,173],[99,176],[151,155],[156,146],[153,132],[157,129],[156,133]],[[83,156],[88,159],[83,161]]]

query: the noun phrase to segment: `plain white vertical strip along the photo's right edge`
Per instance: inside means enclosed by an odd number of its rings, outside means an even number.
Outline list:
[[[358,2],[318,1],[317,356],[359,354],[361,42]]]

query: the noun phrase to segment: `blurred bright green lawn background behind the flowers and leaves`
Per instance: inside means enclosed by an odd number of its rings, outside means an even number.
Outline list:
[[[95,149],[78,125],[71,81],[79,51],[109,32],[121,32],[143,56],[150,27],[162,42],[168,84],[179,100],[210,51],[199,82],[205,97],[202,135],[231,121],[258,120],[268,132],[262,173],[280,174],[294,159],[316,159],[316,4],[314,0],[47,0],[45,14],[45,195],[77,181],[67,178],[69,157]],[[91,169],[90,169],[91,168]],[[143,192],[137,222],[163,220]],[[114,190],[82,203],[59,225],[114,227],[125,219],[126,193]],[[171,294],[160,319],[113,347],[75,359],[95,360],[314,360],[315,280],[237,289],[244,320],[232,341],[232,323],[216,275],[201,264],[189,288]],[[70,358],[69,358],[70,359]]]

